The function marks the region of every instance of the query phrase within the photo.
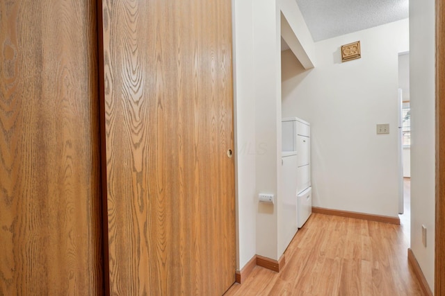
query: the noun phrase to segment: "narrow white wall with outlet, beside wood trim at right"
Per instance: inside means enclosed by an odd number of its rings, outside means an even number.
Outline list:
[[[435,1],[410,1],[411,249],[434,290]],[[421,243],[421,225],[427,243]]]

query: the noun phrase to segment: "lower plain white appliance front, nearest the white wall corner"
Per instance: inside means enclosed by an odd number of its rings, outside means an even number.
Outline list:
[[[291,243],[298,231],[297,217],[297,153],[296,151],[282,153],[282,250]]]

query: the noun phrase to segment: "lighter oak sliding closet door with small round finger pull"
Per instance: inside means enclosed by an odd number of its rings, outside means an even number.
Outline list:
[[[230,0],[102,1],[111,294],[235,279]]]

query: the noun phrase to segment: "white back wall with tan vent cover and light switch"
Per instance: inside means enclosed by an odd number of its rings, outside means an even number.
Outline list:
[[[312,126],[313,205],[398,217],[398,53],[408,20],[316,42],[316,67],[282,53],[282,116]],[[362,58],[341,62],[360,40]],[[390,134],[376,134],[389,123]]]

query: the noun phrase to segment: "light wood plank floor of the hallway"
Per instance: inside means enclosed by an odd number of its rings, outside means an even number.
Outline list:
[[[399,225],[312,214],[280,273],[255,267],[225,295],[422,295]]]

